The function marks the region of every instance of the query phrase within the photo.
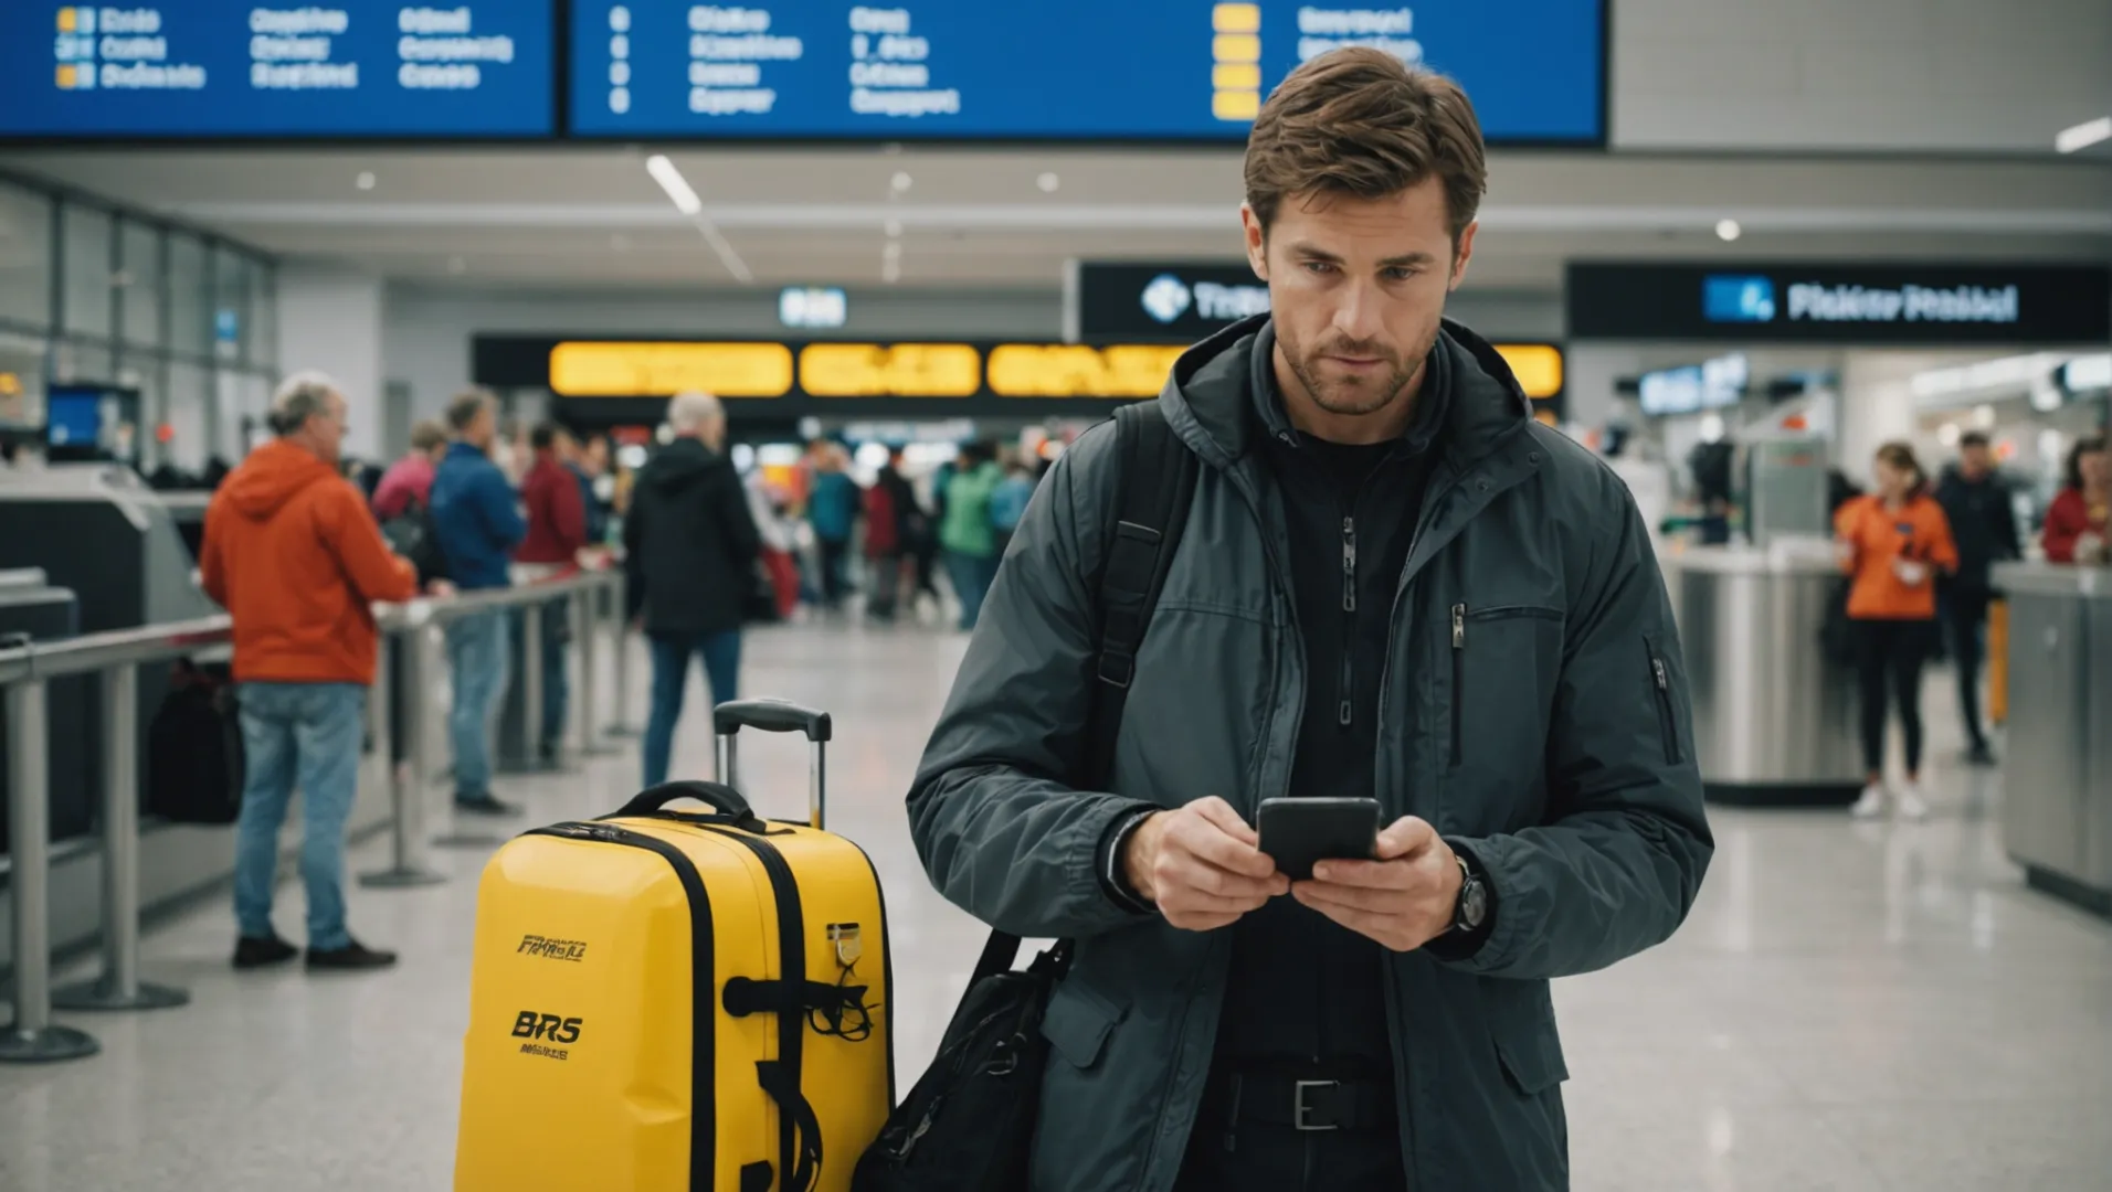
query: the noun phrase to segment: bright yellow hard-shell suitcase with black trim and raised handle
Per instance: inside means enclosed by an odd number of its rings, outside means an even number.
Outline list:
[[[492,857],[456,1192],[849,1190],[893,1106],[879,873],[819,827],[828,713],[737,700],[714,722],[720,774],[743,726],[807,734],[809,825],[670,783]]]

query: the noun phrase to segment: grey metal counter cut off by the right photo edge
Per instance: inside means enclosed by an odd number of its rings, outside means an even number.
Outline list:
[[[2032,886],[2112,916],[2112,568],[2002,563],[2002,842]]]

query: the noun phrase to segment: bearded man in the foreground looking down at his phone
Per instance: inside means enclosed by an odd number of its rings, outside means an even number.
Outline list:
[[[1442,76],[1295,70],[1246,150],[1271,314],[1157,409],[1198,456],[1111,774],[1107,428],[1020,523],[908,795],[936,886],[1075,941],[1033,1188],[1565,1188],[1548,981],[1666,939],[1711,854],[1685,669],[1626,487],[1447,293],[1485,158]],[[1290,882],[1265,797],[1375,797]]]

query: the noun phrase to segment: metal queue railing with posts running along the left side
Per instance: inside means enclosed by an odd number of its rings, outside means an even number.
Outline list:
[[[374,620],[382,633],[374,688],[380,698],[367,700],[367,724],[374,755],[386,768],[391,797],[391,865],[361,873],[361,884],[380,888],[427,886],[446,882],[425,865],[425,793],[437,772],[431,757],[427,724],[431,717],[433,660],[431,629],[450,620],[520,608],[528,618],[524,635],[526,665],[522,681],[541,684],[543,608],[564,599],[579,643],[577,732],[581,753],[598,753],[598,639],[615,633],[617,650],[617,717],[623,715],[623,681],[629,667],[623,641],[623,572],[587,570],[511,589],[422,597],[406,603],[376,603]],[[395,762],[389,698],[391,646],[403,641],[403,762]],[[95,1055],[99,1044],[87,1032],[51,1021],[51,1011],[148,1011],[182,1006],[190,994],[139,979],[139,667],[173,662],[207,650],[234,643],[234,622],[228,616],[205,616],[171,624],[144,624],[87,633],[63,641],[30,641],[23,635],[0,637],[0,694],[6,700],[8,745],[8,905],[13,909],[15,1021],[0,1027],[0,1063],[34,1063]],[[46,684],[68,675],[101,677],[103,766],[101,804],[101,954],[103,973],[93,981],[51,987],[51,772]],[[536,690],[528,690],[536,709]],[[376,713],[376,707],[380,709]],[[615,726],[610,728],[610,732]]]

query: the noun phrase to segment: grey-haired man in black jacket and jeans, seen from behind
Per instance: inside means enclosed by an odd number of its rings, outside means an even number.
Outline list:
[[[714,705],[739,696],[741,618],[760,546],[741,475],[724,456],[727,414],[718,399],[676,395],[667,426],[674,443],[640,468],[623,519],[631,614],[642,618],[653,652],[646,787],[667,781],[691,656],[703,656]]]

